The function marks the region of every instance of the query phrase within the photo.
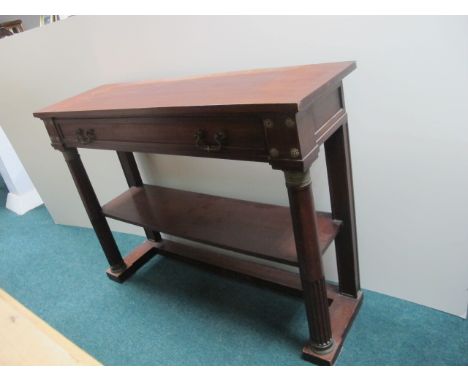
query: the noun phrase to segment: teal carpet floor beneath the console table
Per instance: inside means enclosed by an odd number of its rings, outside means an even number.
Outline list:
[[[111,282],[94,232],[44,207],[0,208],[0,264],[0,288],[106,365],[309,365],[299,298],[157,257]],[[468,365],[468,320],[366,291],[337,364]]]

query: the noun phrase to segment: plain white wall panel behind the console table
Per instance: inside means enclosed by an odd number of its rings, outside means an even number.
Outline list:
[[[55,221],[78,226],[89,221],[33,111],[108,82],[356,60],[345,93],[362,285],[465,316],[466,17],[74,17],[0,40],[0,58],[10,94],[0,123]],[[125,189],[114,153],[82,153],[102,202]],[[266,164],[137,160],[150,182],[287,204],[282,174]],[[313,180],[327,209],[323,158]]]

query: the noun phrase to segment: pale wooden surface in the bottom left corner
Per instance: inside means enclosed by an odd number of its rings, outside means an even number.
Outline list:
[[[100,365],[0,289],[0,365]]]

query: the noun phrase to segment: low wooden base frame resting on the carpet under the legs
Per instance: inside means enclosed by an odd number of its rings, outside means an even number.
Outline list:
[[[286,287],[291,291],[302,292],[301,281],[297,270],[278,268],[274,263],[271,265],[260,264],[258,262],[222,255],[206,249],[194,248],[168,240],[162,242],[144,242],[125,258],[125,263],[128,267],[127,270],[116,274],[109,269],[107,274],[111,279],[122,282],[156,254],[209,266],[211,269],[218,272],[221,271],[232,275],[241,275],[271,285]],[[305,359],[321,365],[333,365],[336,361],[346,334],[359,310],[363,298],[362,293],[359,293],[357,298],[341,295],[338,288],[331,284],[327,285],[327,296],[335,347],[333,351],[328,354],[317,354],[307,345],[304,346],[302,350]]]

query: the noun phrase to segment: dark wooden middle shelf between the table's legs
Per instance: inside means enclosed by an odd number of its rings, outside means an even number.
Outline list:
[[[144,185],[102,207],[105,216],[153,231],[297,265],[288,207]],[[322,253],[341,222],[318,212]]]

